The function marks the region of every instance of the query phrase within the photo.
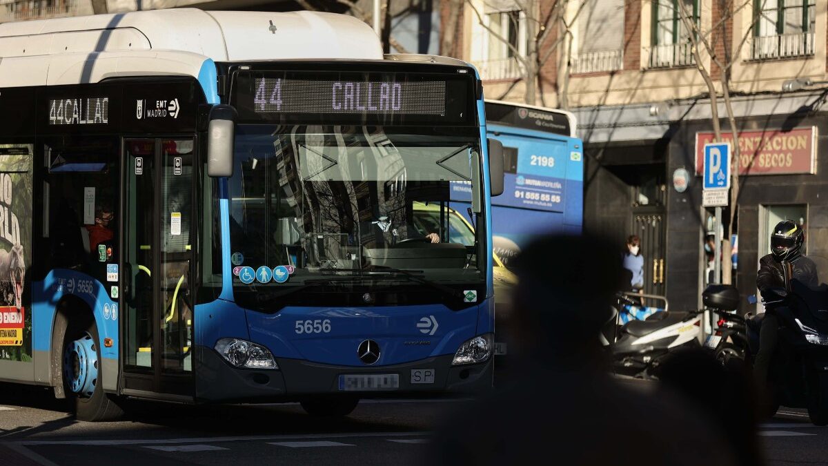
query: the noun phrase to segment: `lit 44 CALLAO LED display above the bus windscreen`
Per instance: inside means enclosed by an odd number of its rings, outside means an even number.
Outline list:
[[[349,81],[257,78],[258,114],[445,115],[445,81]]]

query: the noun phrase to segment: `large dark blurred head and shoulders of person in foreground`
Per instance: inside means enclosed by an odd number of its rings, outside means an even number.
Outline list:
[[[737,464],[680,396],[609,376],[599,331],[628,287],[621,270],[614,245],[587,235],[542,237],[517,256],[514,379],[446,418],[431,464]]]

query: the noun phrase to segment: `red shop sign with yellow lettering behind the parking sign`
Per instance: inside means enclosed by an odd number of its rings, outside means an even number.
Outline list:
[[[733,144],[730,133],[722,139]],[[696,175],[704,165],[705,144],[714,133],[696,133]],[[813,173],[816,167],[816,127],[739,133],[739,176]]]

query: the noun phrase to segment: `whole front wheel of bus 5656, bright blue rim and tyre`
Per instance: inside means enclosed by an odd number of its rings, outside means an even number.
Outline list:
[[[103,393],[98,328],[91,318],[70,322],[63,344],[63,381],[78,420],[117,420],[123,410]]]

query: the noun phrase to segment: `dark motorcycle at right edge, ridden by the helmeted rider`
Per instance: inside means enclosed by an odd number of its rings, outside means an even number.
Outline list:
[[[771,414],[779,405],[806,408],[811,423],[828,425],[828,284],[811,288],[791,279],[787,289],[764,290],[763,298],[779,321],[777,347],[768,367]],[[748,319],[751,360],[758,353],[764,316]]]

